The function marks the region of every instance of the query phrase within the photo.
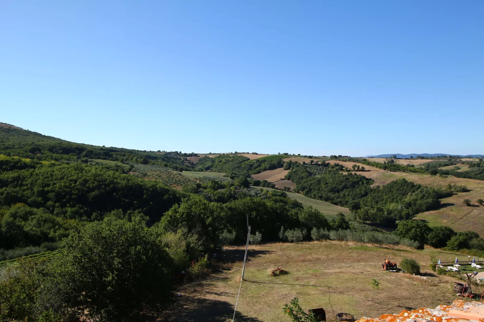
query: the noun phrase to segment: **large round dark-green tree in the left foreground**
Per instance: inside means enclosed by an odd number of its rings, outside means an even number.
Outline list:
[[[92,320],[159,311],[171,297],[171,258],[141,219],[86,225],[64,241],[58,265],[67,306]]]

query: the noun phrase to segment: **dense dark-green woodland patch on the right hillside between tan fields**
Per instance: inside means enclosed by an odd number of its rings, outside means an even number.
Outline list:
[[[319,167],[319,170],[315,170]],[[372,188],[373,180],[358,172],[341,173],[343,166],[321,162],[306,165],[287,162],[291,171],[286,178],[296,184],[296,190],[310,198],[348,207],[359,220],[393,227],[397,220],[412,219],[419,212],[436,209],[439,199],[449,196],[452,189],[439,190],[399,179],[385,186]]]

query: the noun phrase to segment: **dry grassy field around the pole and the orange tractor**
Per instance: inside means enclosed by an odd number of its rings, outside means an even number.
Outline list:
[[[228,247],[224,253],[225,270],[207,278],[218,279],[178,290],[180,297],[161,321],[191,322],[201,321],[201,317],[203,321],[232,321],[244,247]],[[236,321],[288,322],[282,308],[293,297],[299,297],[304,309],[323,307],[327,321],[335,321],[338,312],[358,319],[450,304],[457,298],[452,293],[454,280],[425,271],[431,253],[442,261],[453,261],[456,256],[437,249],[391,249],[334,241],[250,246]],[[400,263],[404,256],[421,263],[433,281],[381,269],[384,258],[393,257]],[[467,256],[459,256],[461,261],[464,258]],[[289,274],[269,276],[268,269],[277,266]],[[372,278],[380,283],[378,290],[372,289]]]

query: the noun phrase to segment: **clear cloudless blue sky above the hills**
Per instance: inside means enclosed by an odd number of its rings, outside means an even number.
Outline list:
[[[182,152],[484,154],[484,1],[2,1],[0,121]]]

